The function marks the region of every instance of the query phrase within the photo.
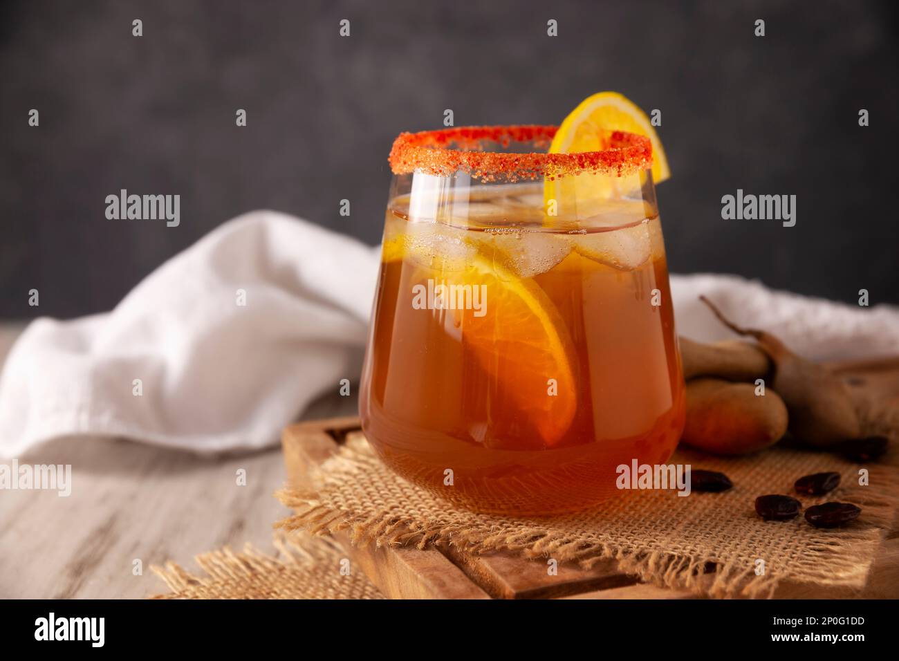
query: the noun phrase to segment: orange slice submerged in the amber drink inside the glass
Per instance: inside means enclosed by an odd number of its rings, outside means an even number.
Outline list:
[[[506,265],[514,255],[467,234],[440,223],[390,228],[382,260],[413,265],[414,281],[432,278],[435,285],[477,289],[480,310],[453,309],[461,341],[530,420],[542,444],[554,446],[571,426],[577,404],[574,349],[565,323],[539,285]],[[469,300],[475,301],[471,295]],[[503,439],[509,449],[518,447],[513,441]]]

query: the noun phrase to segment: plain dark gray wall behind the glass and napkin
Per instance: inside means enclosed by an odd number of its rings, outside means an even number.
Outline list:
[[[111,308],[246,210],[377,243],[399,131],[557,123],[604,89],[663,112],[673,272],[899,302],[896,4],[5,0],[0,317]],[[179,193],[181,226],[105,219],[121,188]],[[722,220],[737,188],[796,194],[797,226]]]

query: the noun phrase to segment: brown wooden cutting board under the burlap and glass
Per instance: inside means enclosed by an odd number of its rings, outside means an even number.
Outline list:
[[[899,358],[832,367],[852,388],[867,389],[879,400],[899,406]],[[307,486],[310,469],[330,457],[351,434],[360,433],[355,416],[287,427],[281,440],[289,481]],[[354,565],[393,599],[697,598],[690,592],[641,583],[636,576],[620,573],[614,560],[603,560],[591,569],[567,563],[558,567],[556,576],[549,576],[544,562],[508,552],[473,555],[453,548],[353,547],[343,534],[336,537]],[[785,583],[775,597],[899,598],[899,520],[886,535],[863,591]]]

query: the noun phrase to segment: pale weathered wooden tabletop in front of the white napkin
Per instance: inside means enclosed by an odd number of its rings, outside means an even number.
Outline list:
[[[0,362],[22,327],[0,325]],[[353,414],[351,399],[322,399],[304,417]],[[60,439],[19,461],[71,464],[72,495],[0,491],[4,599],[166,592],[151,564],[174,559],[191,569],[198,553],[246,541],[271,551],[271,523],[289,514],[271,496],[285,480],[279,445],[209,457],[122,439]],[[245,487],[236,485],[237,469],[246,469]]]

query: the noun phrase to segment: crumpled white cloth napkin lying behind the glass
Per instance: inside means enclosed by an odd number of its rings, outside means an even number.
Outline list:
[[[174,256],[109,313],[35,320],[0,374],[0,457],[72,435],[192,451],[277,442],[315,397],[358,379],[378,257],[304,220],[254,211]],[[699,293],[812,358],[899,353],[897,308],[722,275],[672,276],[681,335],[731,335]]]

